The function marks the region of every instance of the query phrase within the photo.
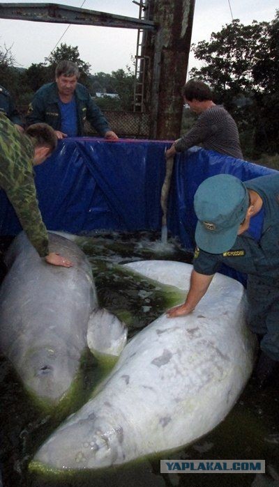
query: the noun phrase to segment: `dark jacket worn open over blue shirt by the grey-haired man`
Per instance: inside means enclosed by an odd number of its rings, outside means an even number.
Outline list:
[[[78,83],[75,88],[77,106],[77,135],[84,135],[84,122],[88,120],[101,137],[110,127],[99,107],[93,102],[87,88]],[[61,130],[61,112],[56,82],[44,84],[34,95],[29,105],[27,124],[44,122],[54,130]]]

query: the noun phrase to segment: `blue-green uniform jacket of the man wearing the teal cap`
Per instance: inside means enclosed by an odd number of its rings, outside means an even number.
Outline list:
[[[232,249],[224,254],[209,254],[197,249],[194,269],[200,274],[213,275],[221,263],[240,272],[248,279],[257,276],[262,283],[279,286],[279,173],[261,176],[244,183],[261,196],[264,206],[264,226],[257,242],[247,232],[238,235]]]

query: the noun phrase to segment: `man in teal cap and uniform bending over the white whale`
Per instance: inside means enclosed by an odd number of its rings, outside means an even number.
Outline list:
[[[260,340],[259,385],[279,362],[279,173],[243,183],[230,174],[204,180],[194,199],[197,250],[186,301],[168,316],[187,315],[221,263],[248,275],[248,325]]]

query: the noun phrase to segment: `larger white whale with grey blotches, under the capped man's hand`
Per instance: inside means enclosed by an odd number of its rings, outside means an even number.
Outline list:
[[[128,264],[187,288],[192,266]],[[222,421],[252,371],[243,286],[223,275],[186,317],[164,314],[124,348],[88,403],[36,453],[31,470],[98,469],[193,442]]]

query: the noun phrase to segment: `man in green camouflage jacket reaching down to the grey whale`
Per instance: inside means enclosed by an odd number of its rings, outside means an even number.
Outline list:
[[[56,134],[47,124],[36,123],[26,134],[21,134],[0,114],[0,187],[40,257],[49,264],[70,267],[70,261],[49,251],[47,229],[40,215],[33,180],[33,166],[42,164],[56,144]]]

